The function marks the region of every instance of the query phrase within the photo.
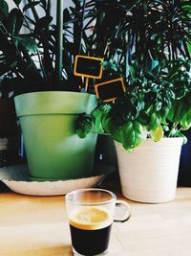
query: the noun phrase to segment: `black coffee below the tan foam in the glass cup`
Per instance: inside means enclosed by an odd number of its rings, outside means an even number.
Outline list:
[[[72,243],[76,252],[96,255],[108,248],[112,224],[96,230],[84,230],[70,224]]]

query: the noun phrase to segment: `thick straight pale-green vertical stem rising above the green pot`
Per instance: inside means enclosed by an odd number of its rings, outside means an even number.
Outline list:
[[[55,53],[55,87],[59,88],[62,81],[62,45],[63,45],[63,0],[57,0],[57,11],[56,11],[56,27],[57,27],[57,38],[56,38],[56,53]]]

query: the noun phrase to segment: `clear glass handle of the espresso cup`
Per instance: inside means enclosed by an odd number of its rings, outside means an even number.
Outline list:
[[[115,208],[115,216],[114,221],[115,222],[124,222],[128,221],[131,217],[131,210],[130,205],[124,200],[118,200],[116,201],[116,208]]]

